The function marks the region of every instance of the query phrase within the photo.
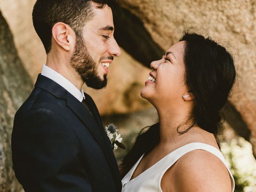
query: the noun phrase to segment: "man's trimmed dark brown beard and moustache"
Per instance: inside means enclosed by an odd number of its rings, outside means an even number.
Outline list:
[[[100,58],[99,62],[106,57]],[[110,56],[108,59],[112,59]],[[102,89],[107,85],[107,75],[103,79],[98,75],[97,63],[90,56],[82,36],[77,35],[75,52],[70,60],[71,66],[78,72],[85,84],[94,89]]]

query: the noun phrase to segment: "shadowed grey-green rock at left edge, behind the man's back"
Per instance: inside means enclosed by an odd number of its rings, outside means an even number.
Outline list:
[[[12,170],[12,125],[14,114],[32,90],[32,84],[1,12],[0,32],[0,191],[18,192],[22,187]]]

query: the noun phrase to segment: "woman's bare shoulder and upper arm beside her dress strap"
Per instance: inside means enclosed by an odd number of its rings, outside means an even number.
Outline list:
[[[165,174],[174,191],[231,192],[231,182],[225,164],[206,150],[193,150],[183,155]]]

